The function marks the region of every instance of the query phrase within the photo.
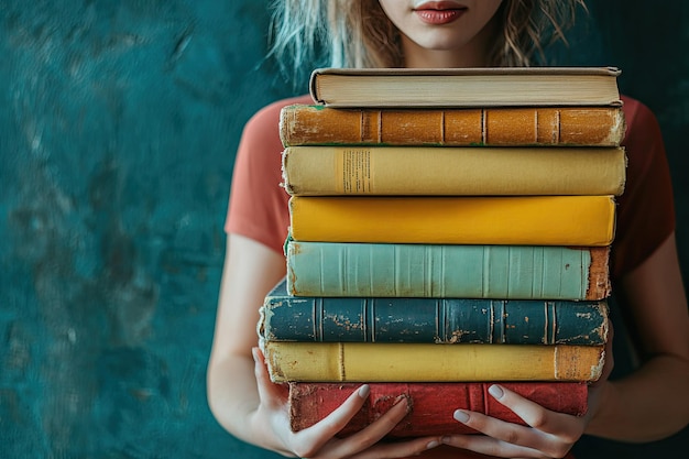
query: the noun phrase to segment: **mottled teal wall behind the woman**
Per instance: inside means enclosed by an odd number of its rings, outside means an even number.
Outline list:
[[[263,58],[266,3],[0,0],[0,457],[278,457],[205,398],[241,128],[306,88]],[[687,266],[689,11],[661,3],[592,2],[554,55],[658,114]]]

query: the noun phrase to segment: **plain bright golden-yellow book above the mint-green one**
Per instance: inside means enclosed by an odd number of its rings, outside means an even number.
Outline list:
[[[293,196],[296,241],[499,245],[612,243],[613,196]]]

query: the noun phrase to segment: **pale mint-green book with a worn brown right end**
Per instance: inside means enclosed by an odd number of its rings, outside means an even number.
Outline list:
[[[502,299],[602,299],[610,249],[299,242],[286,244],[287,293]]]

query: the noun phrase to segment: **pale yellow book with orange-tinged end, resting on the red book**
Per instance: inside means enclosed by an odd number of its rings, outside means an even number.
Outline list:
[[[274,382],[595,381],[603,346],[263,341]]]

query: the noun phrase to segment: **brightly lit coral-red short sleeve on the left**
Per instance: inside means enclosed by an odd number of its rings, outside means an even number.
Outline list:
[[[281,186],[280,111],[300,97],[274,102],[247,122],[237,151],[225,230],[283,252],[287,237],[288,195]]]

